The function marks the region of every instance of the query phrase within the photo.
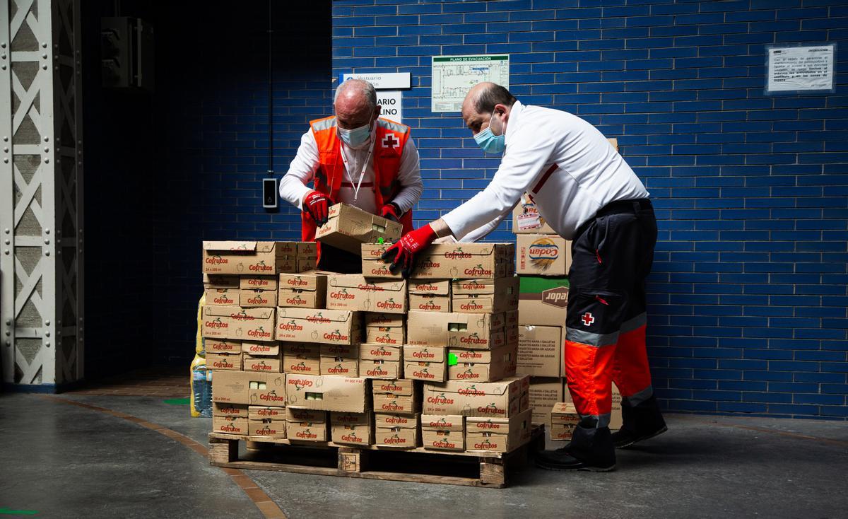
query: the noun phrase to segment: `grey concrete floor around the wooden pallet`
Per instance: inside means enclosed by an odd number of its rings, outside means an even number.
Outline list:
[[[209,419],[161,398],[64,394],[206,444]],[[848,516],[848,422],[668,416],[670,431],[619,451],[616,472],[528,466],[510,488],[245,471],[307,517]],[[158,432],[51,396],[0,395],[0,515],[261,517],[222,470]],[[21,515],[22,517],[24,515]],[[31,517],[33,515],[26,515]]]

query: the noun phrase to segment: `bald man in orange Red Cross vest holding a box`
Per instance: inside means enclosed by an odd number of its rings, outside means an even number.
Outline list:
[[[280,182],[280,196],[302,210],[302,239],[314,242],[316,226],[326,224],[327,209],[339,202],[399,221],[410,232],[424,184],[409,126],[379,117],[377,91],[368,81],[339,85],[333,110],[332,117],[310,121]],[[321,244],[318,268],[361,272],[362,262]]]

